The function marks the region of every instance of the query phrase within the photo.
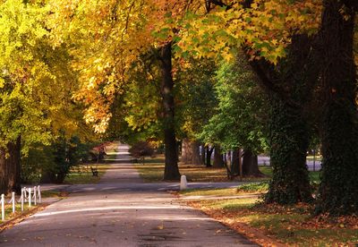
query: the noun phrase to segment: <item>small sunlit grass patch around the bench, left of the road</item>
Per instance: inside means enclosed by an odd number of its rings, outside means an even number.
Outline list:
[[[98,168],[98,176],[93,176],[90,166]],[[90,164],[73,167],[71,173],[66,176],[64,183],[68,184],[88,184],[98,183],[100,177],[106,173],[109,166],[106,164]]]

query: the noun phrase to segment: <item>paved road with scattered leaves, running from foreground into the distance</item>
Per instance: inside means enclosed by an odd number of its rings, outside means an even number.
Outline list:
[[[249,246],[240,234],[142,183],[120,146],[101,183],[68,187],[60,200],[0,234],[1,246]],[[202,185],[202,184],[201,184]],[[177,184],[175,184],[177,186]]]

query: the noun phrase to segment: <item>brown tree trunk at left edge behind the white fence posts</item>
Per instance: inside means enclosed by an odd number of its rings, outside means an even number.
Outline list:
[[[21,192],[21,137],[0,149],[0,192]]]

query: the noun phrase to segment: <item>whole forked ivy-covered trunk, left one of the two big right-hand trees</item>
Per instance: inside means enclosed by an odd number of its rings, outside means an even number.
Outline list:
[[[270,98],[270,156],[273,176],[266,201],[290,204],[311,201],[306,166],[309,125],[306,111],[318,78],[312,54],[312,39],[295,35],[288,54],[275,68],[251,62]]]

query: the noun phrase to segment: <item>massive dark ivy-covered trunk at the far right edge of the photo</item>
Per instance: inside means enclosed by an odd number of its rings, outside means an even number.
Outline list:
[[[353,44],[357,11],[354,4],[358,4],[356,1],[338,0],[325,0],[323,3],[320,30],[324,93],[323,161],[317,212],[357,214],[358,112]]]

